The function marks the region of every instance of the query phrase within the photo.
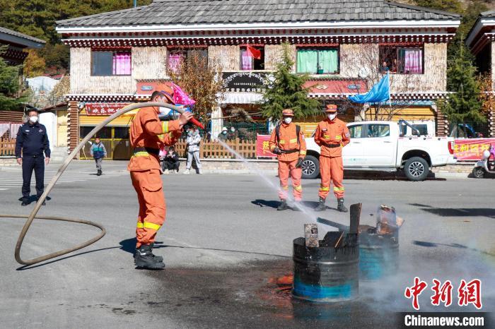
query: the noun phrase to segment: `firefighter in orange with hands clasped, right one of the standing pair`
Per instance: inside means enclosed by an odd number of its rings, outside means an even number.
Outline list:
[[[330,191],[330,180],[334,184],[334,195],[337,197],[337,210],[347,213],[344,206],[344,164],[342,164],[342,148],[349,144],[350,134],[344,121],[337,119],[337,105],[327,104],[327,119],[320,121],[315,132],[315,143],[320,145],[320,203],[316,211],[325,210],[325,199]]]

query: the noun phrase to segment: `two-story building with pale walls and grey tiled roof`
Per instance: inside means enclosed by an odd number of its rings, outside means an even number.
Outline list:
[[[154,0],[148,6],[57,22],[71,47],[69,140],[129,102],[147,100],[149,85],[167,80],[166,66],[203,49],[223,70],[225,95],[213,117],[230,107],[255,112],[260,85],[288,42],[293,71],[309,73],[309,97],[339,102],[366,92],[377,73],[392,76],[393,119],[428,121],[439,136],[445,122],[435,106],[446,95],[447,44],[460,17],[387,0]],[[261,59],[249,56],[250,45]],[[78,104],[86,103],[85,109]],[[361,114],[373,117],[374,107]],[[354,120],[356,111],[342,114]],[[314,128],[306,123],[306,133]],[[213,120],[213,134],[221,121]],[[129,119],[103,135],[122,143]],[[120,140],[120,141],[119,141]]]

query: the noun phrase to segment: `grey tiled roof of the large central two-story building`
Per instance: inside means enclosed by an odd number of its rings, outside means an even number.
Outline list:
[[[154,0],[148,6],[59,20],[59,28],[119,25],[458,20],[454,13],[387,0]]]

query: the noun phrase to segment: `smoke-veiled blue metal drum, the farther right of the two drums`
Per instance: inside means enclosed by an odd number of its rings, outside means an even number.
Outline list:
[[[397,234],[359,235],[359,278],[379,280],[397,274],[399,269],[399,239]]]

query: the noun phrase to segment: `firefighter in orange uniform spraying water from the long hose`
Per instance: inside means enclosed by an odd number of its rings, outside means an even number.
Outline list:
[[[163,86],[165,90],[169,88]],[[170,92],[153,92],[153,102],[173,102]],[[165,221],[165,196],[161,180],[158,153],[163,145],[173,145],[182,133],[182,126],[192,118],[190,112],[179,119],[163,121],[158,114],[166,108],[144,107],[137,112],[131,125],[131,143],[134,154],[127,169],[131,172],[132,186],[139,201],[136,226],[136,253],[134,263],[139,268],[164,268],[163,258],[152,253],[158,229]]]

